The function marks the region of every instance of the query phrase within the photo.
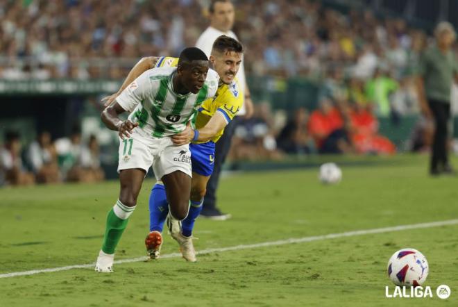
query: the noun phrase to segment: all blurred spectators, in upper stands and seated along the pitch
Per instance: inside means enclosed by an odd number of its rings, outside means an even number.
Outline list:
[[[207,2],[0,0],[0,78],[122,79],[142,56],[173,56],[194,45],[207,26]],[[423,31],[402,19],[379,19],[369,10],[343,14],[320,1],[234,3],[234,31],[247,50],[248,75],[307,77],[320,81],[321,89],[316,110],[298,108],[289,117],[256,101],[255,116],[237,127],[232,159],[396,150],[378,134],[377,118],[396,122],[418,114],[412,76],[427,46]],[[428,145],[425,135],[432,126],[420,129],[419,138],[425,140],[418,148]],[[77,133],[63,143],[41,133],[25,154],[18,141],[17,133],[6,133],[3,181],[103,178],[96,138],[83,146]]]

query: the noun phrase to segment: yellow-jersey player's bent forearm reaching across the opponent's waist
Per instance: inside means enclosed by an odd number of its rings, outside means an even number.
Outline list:
[[[212,140],[221,129],[228,124],[226,117],[220,113],[215,113],[205,126],[197,130],[193,130],[190,126],[186,126],[181,133],[172,136],[173,144],[184,145],[192,141],[207,142]]]

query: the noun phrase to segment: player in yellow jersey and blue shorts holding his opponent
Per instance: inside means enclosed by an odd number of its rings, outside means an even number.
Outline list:
[[[189,213],[183,221],[178,222],[169,213],[169,205],[164,185],[156,183],[151,190],[149,198],[150,210],[150,233],[146,236],[145,244],[150,258],[160,256],[162,246],[162,230],[167,218],[167,226],[173,239],[180,244],[183,258],[188,261],[196,261],[196,252],[192,244],[192,229],[194,222],[202,210],[203,197],[207,182],[213,172],[215,142],[221,138],[224,127],[237,114],[243,103],[241,86],[237,83],[235,75],[239,70],[243,47],[237,40],[226,35],[221,35],[214,41],[210,62],[220,76],[220,84],[217,94],[212,99],[203,102],[195,115],[195,128],[190,125],[185,131],[174,135],[172,140],[175,144],[189,144],[192,161],[192,188],[191,204]],[[124,90],[137,76],[154,67],[176,66],[177,58],[171,57],[148,57],[133,67],[119,92]],[[117,94],[105,97],[105,105],[114,101]],[[180,153],[177,153],[180,158]],[[168,215],[168,216],[167,216]]]

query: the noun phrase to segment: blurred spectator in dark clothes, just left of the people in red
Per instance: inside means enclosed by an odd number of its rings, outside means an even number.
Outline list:
[[[309,154],[309,141],[311,140],[307,132],[307,119],[309,115],[305,108],[294,110],[291,118],[287,122],[277,138],[278,148],[287,154]]]

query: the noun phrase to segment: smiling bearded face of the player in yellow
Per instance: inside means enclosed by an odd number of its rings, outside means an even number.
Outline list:
[[[224,53],[214,53],[210,56],[213,69],[219,74],[223,83],[230,84],[234,81],[235,75],[239,71],[241,64],[241,53],[229,51]]]

